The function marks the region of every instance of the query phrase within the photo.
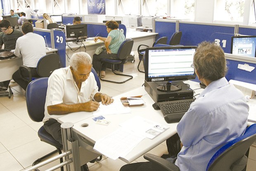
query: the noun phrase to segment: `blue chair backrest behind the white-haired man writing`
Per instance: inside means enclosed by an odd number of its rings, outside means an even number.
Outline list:
[[[28,115],[35,122],[41,122],[45,116],[47,87],[48,77],[41,77],[31,81],[26,89]]]

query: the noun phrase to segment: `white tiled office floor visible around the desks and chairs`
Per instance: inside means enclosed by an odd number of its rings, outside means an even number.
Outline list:
[[[102,88],[100,92],[116,96],[142,86],[144,73],[138,72],[138,62],[139,59],[136,55],[135,63],[128,62],[124,66],[124,73],[133,75],[132,80],[123,84],[101,81]],[[142,65],[141,63],[140,68],[142,68]],[[112,74],[111,70],[107,70],[106,78],[123,79],[123,77]],[[0,171],[21,171],[31,166],[39,157],[55,150],[55,148],[39,140],[37,131],[43,123],[33,122],[29,118],[24,90],[15,82],[11,82],[10,85],[14,96],[10,99],[7,96],[0,97]],[[161,143],[150,153],[158,156],[166,154],[165,143]],[[142,161],[145,161],[145,159],[140,157],[134,162]],[[46,170],[57,164],[59,164],[58,160],[40,169]],[[103,157],[99,163],[89,163],[88,166],[90,171],[119,171],[124,164],[126,163],[120,159],[111,160]]]

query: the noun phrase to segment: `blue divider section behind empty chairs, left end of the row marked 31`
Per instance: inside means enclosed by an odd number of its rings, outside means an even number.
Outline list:
[[[176,21],[164,21],[164,20],[155,20],[155,33],[158,33],[156,35],[156,39],[159,39],[160,37],[167,36],[168,40],[167,43],[170,42],[171,36],[176,31]]]

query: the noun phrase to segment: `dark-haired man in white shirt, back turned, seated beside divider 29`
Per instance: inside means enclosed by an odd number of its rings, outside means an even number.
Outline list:
[[[29,22],[25,22],[21,26],[24,36],[17,39],[15,56],[22,57],[23,65],[31,69],[32,77],[39,77],[36,71],[36,66],[39,59],[46,55],[45,40],[43,36],[33,33],[33,26]],[[28,73],[22,73],[23,76],[28,76]],[[12,79],[19,84],[22,89],[26,90],[28,82],[23,80],[17,70]]]

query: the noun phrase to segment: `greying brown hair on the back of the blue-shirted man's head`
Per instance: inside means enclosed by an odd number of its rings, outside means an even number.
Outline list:
[[[202,78],[211,81],[225,77],[228,71],[223,49],[206,41],[197,47],[193,65]]]

